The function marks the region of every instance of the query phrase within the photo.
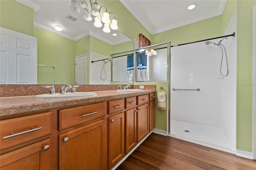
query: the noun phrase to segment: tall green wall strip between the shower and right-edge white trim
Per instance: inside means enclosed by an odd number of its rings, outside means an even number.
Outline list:
[[[237,149],[252,152],[252,7],[237,1]]]

